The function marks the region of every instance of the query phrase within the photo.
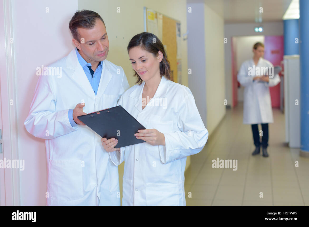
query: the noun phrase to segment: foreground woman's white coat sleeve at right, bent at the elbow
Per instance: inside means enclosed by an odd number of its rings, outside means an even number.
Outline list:
[[[195,105],[192,94],[187,94],[177,114],[179,131],[163,133],[165,146],[159,145],[162,163],[169,163],[200,152],[206,144],[208,131]]]

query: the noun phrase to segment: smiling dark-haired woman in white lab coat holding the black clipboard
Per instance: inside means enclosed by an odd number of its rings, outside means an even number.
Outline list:
[[[125,161],[123,205],[185,205],[184,169],[187,156],[200,152],[208,138],[193,95],[170,79],[161,41],[151,33],[135,35],[128,54],[137,77],[118,101],[146,130],[146,141],[115,149],[115,138],[102,138],[115,165]]]

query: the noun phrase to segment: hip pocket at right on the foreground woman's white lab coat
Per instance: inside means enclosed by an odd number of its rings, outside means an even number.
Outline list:
[[[178,184],[146,184],[147,206],[179,206]]]

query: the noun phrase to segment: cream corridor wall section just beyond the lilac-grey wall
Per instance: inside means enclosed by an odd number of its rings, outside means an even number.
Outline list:
[[[204,4],[207,130],[211,134],[226,114],[224,20]]]

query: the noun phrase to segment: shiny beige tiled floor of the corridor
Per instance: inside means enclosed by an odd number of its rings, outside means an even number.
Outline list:
[[[273,115],[265,158],[251,155],[255,147],[251,126],[242,123],[242,105],[227,110],[204,149],[191,156],[185,172],[187,205],[309,205],[309,159],[286,146],[284,114],[273,109]],[[217,158],[237,159],[237,170],[212,168]]]

